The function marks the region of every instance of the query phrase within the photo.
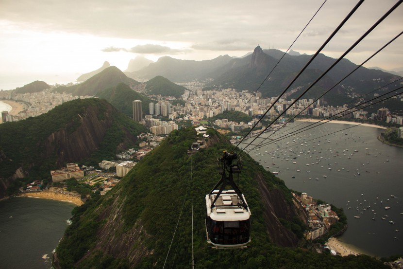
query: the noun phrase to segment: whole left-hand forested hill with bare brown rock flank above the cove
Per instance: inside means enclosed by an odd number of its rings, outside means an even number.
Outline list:
[[[0,198],[16,178],[50,178],[68,162],[112,160],[145,128],[101,99],[76,99],[0,125]]]

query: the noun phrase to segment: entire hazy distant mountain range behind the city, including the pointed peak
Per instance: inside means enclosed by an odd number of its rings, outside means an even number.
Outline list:
[[[143,80],[162,75],[176,83],[205,80],[208,81],[206,89],[233,88],[239,91],[249,90],[253,92],[262,84],[283,54],[284,52],[279,50],[263,50],[258,46],[252,54],[242,58],[224,55],[212,60],[192,61],[161,57],[157,62],[151,63],[139,71],[126,74],[129,77]],[[312,55],[296,52],[285,54],[280,64],[259,88],[259,91],[264,97],[280,94],[311,57]],[[288,98],[298,97],[307,85],[315,81],[335,61],[334,58],[319,54],[302,76],[291,85],[289,91],[292,93],[288,93]],[[367,93],[369,90],[375,90],[399,78],[396,74],[360,67],[352,75],[337,84],[356,67],[358,65],[347,59],[342,59],[303,98],[314,98],[336,85],[333,90],[321,98],[321,103],[342,105],[346,99],[350,99],[354,94]]]

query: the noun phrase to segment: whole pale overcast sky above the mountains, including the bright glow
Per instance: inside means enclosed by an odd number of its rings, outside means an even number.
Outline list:
[[[357,0],[327,0],[292,47],[314,54]],[[397,0],[366,0],[323,53],[337,58]],[[104,61],[143,55],[206,60],[259,44],[285,51],[323,0],[0,0],[0,89],[74,81]],[[403,5],[347,58],[360,64],[403,31]],[[367,67],[403,67],[399,37]]]

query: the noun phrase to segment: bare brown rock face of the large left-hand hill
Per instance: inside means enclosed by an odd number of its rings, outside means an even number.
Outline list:
[[[10,176],[10,174],[7,175],[7,177],[0,175],[0,198],[6,196],[6,189],[15,179],[32,176],[30,175],[32,174],[32,169],[35,169],[35,171],[39,170],[38,168],[44,163],[49,166],[49,170],[65,167],[66,163],[69,162],[84,161],[91,157],[95,151],[100,149],[100,145],[107,132],[111,130],[114,121],[120,123],[120,120],[118,120],[120,118],[116,116],[118,111],[112,105],[106,101],[95,100],[97,101],[92,101],[92,103],[95,103],[93,105],[86,105],[84,102],[83,106],[86,107],[78,112],[78,119],[67,121],[64,127],[55,129],[48,137],[40,138],[35,136],[35,134],[31,134],[31,137],[37,139],[37,141],[31,143],[37,155],[35,158],[26,158],[23,161],[20,160],[18,166],[13,168],[16,170],[12,176]],[[67,106],[66,109],[68,108]],[[46,127],[51,128],[50,126],[43,126],[41,128]],[[133,145],[137,140],[136,134],[132,134],[129,129],[125,127],[125,124],[122,124],[121,127],[119,132],[123,132],[124,135],[122,135],[122,140],[114,145],[117,151],[126,150],[128,145]],[[121,133],[119,136],[120,135]],[[19,154],[21,154],[26,149],[16,148],[14,150],[19,151]],[[7,163],[11,161],[15,161],[11,160],[10,156],[10,152],[7,153],[1,150],[0,165],[7,165]],[[43,168],[40,169],[43,170]]]

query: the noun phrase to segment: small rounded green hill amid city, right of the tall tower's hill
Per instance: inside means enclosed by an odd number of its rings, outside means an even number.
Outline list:
[[[149,94],[161,94],[162,96],[179,98],[185,93],[185,89],[185,87],[179,86],[163,76],[156,76],[146,83],[146,91]]]

